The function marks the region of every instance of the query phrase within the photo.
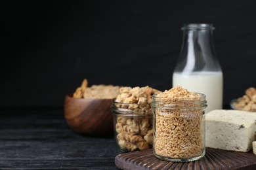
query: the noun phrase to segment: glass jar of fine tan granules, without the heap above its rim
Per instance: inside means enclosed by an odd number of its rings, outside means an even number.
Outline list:
[[[153,95],[153,152],[167,161],[194,161],[205,155],[205,95],[161,98]]]

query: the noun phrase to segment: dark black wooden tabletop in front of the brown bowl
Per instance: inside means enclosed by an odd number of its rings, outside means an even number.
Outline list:
[[[0,109],[0,169],[117,169],[114,137],[72,131],[62,109]]]

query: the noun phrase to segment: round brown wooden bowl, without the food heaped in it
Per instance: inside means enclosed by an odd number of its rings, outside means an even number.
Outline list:
[[[112,99],[76,99],[71,94],[64,101],[68,126],[77,133],[96,136],[114,134]]]

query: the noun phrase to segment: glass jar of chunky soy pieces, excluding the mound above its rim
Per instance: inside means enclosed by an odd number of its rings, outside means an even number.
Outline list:
[[[115,138],[119,152],[152,148],[152,109],[138,109],[137,104],[112,101]]]

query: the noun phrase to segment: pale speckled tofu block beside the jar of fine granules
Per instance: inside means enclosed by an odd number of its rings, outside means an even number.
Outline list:
[[[205,114],[205,146],[248,152],[255,141],[256,113],[213,110]]]

